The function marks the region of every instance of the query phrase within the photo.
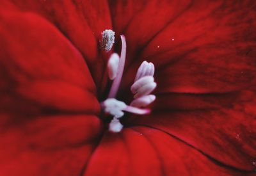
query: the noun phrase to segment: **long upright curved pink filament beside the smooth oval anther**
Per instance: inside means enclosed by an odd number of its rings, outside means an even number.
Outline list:
[[[120,57],[120,61],[118,64],[117,74],[116,74],[116,77],[111,86],[108,98],[115,98],[116,93],[118,92],[118,88],[120,86],[121,80],[122,80],[123,72],[124,72],[125,56],[126,56],[126,41],[125,41],[124,35],[121,35],[121,40],[122,40],[121,57]]]

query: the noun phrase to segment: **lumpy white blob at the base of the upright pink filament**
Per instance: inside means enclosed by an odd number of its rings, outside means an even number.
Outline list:
[[[122,111],[127,107],[127,105],[116,99],[106,99],[103,103],[104,111],[114,116],[114,118],[121,118],[124,116],[124,112]]]

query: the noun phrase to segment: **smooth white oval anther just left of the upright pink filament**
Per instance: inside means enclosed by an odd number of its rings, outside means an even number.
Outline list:
[[[119,61],[120,57],[118,56],[118,54],[111,54],[108,60],[108,76],[111,80],[115,79],[116,77]]]

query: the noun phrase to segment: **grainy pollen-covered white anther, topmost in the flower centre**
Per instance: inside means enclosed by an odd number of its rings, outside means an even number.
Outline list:
[[[107,52],[111,50],[113,44],[115,43],[115,32],[111,29],[106,29],[102,33],[102,48]]]

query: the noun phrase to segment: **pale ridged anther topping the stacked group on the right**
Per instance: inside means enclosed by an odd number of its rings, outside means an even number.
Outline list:
[[[154,76],[155,67],[153,63],[148,63],[147,61],[143,61],[137,71],[134,82],[144,76]]]

